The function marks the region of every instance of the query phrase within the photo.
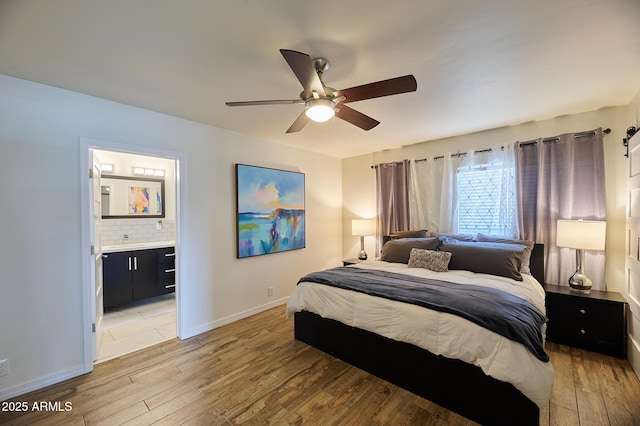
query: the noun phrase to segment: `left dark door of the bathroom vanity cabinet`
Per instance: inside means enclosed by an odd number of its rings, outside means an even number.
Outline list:
[[[106,253],[103,257],[104,307],[111,308],[131,302],[131,253]]]

